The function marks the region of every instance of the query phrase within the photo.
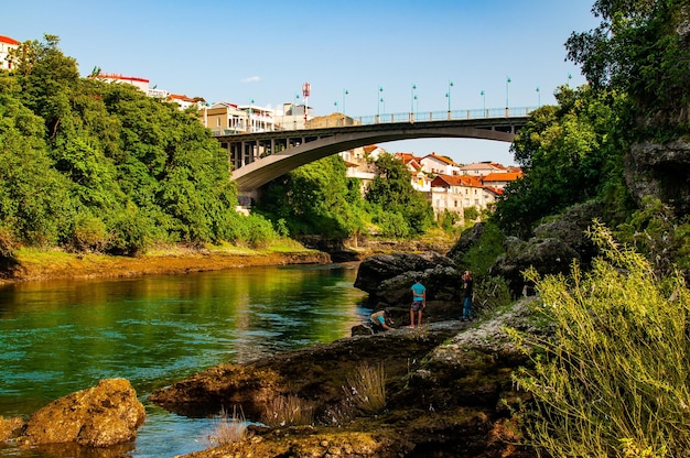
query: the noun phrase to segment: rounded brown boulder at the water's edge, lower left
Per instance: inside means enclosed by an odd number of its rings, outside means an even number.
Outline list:
[[[106,379],[39,410],[26,423],[21,439],[29,445],[110,447],[133,440],[144,418],[143,404],[129,381]]]

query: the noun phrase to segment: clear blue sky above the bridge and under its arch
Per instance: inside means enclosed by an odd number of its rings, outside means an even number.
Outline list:
[[[573,31],[596,26],[592,2],[22,0],[2,7],[0,34],[58,35],[84,76],[100,67],[209,102],[254,99],[276,108],[309,81],[315,116],[337,108],[358,117],[409,112],[412,85],[418,112],[446,110],[449,81],[453,110],[500,108],[506,99],[510,107],[554,103],[553,91],[569,75],[571,85],[584,83],[565,62],[563,43]],[[514,163],[508,144],[486,140],[380,146],[461,163]]]

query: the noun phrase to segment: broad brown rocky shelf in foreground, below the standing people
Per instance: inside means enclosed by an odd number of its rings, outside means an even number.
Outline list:
[[[526,393],[510,374],[525,357],[504,326],[536,331],[525,303],[486,321],[438,321],[341,339],[196,374],[150,400],[183,414],[241,406],[247,419],[271,415],[293,396],[313,413],[310,425],[250,426],[244,437],[193,457],[535,457],[518,446],[513,418]],[[353,379],[381,364],[385,406],[353,404]],[[517,408],[516,408],[517,410]]]

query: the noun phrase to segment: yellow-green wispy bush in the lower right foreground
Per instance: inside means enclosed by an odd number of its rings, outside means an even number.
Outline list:
[[[591,237],[604,254],[591,272],[527,275],[556,324],[552,339],[513,331],[536,350],[515,378],[536,400],[532,445],[554,457],[690,456],[690,292],[601,225]]]

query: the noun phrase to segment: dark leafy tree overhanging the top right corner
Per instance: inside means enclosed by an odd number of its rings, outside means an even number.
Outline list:
[[[595,90],[628,95],[630,106],[621,115],[647,129],[621,133],[665,138],[687,132],[688,2],[597,0],[592,11],[602,18],[601,24],[570,36],[565,43],[568,58],[582,66]]]

